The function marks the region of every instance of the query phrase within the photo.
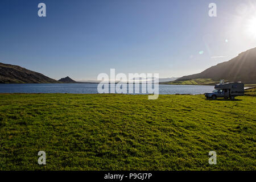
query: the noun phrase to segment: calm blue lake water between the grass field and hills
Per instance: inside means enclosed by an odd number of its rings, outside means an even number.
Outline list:
[[[98,93],[98,84],[0,84],[0,93]],[[142,87],[139,85],[140,94]],[[128,86],[127,86],[128,88]],[[203,94],[214,86],[159,85],[159,94]]]

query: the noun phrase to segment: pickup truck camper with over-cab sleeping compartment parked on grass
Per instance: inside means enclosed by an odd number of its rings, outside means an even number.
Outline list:
[[[229,82],[224,84],[222,81],[220,84],[215,85],[214,89],[213,92],[205,93],[205,97],[212,99],[222,97],[234,100],[237,96],[243,96],[245,92],[242,82]]]

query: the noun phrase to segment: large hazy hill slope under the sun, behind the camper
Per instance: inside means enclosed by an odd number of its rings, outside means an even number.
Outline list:
[[[217,64],[205,71],[178,78],[174,82],[198,78],[210,78],[213,81],[242,81],[246,84],[256,83],[256,48],[240,53],[237,57],[224,63]]]

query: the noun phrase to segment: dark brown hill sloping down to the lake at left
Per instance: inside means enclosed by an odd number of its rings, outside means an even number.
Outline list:
[[[55,83],[56,80],[17,65],[0,63],[0,83]]]

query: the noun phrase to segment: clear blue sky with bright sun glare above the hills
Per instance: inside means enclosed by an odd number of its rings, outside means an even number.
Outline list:
[[[256,47],[255,20],[255,0],[1,0],[0,62],[55,79],[184,76]]]

